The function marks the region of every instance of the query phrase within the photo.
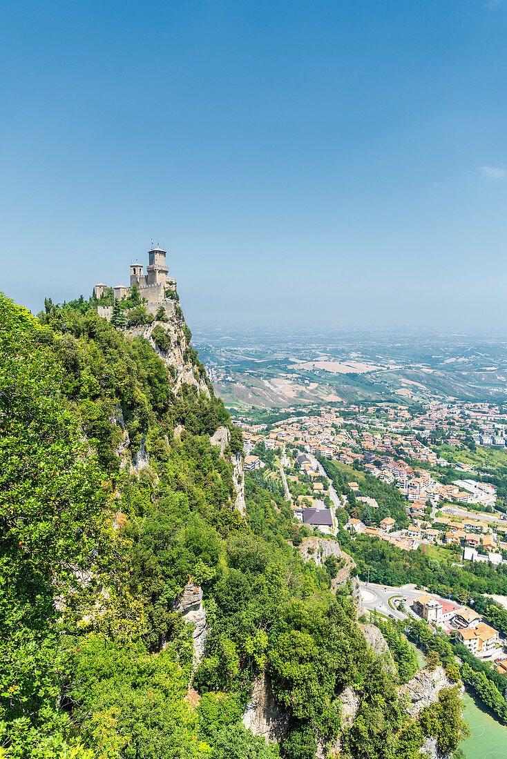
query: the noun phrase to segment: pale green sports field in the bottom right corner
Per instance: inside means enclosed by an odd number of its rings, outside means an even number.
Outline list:
[[[493,719],[489,710],[467,693],[464,694],[464,719],[471,737],[460,744],[467,759],[502,759],[507,757],[507,727]]]

